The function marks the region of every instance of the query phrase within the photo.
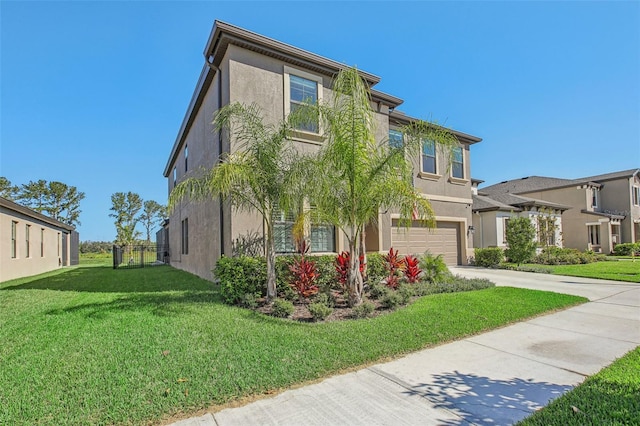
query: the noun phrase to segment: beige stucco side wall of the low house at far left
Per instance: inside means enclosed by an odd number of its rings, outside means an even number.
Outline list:
[[[11,257],[11,222],[16,221],[16,258]],[[30,250],[27,257],[26,225],[31,225]],[[43,231],[41,251],[41,230]],[[31,218],[13,210],[0,207],[0,282],[14,278],[27,277],[52,271],[63,266],[63,251],[66,251],[67,264],[70,259],[71,238],[62,244],[62,234],[69,231],[57,228],[38,219]]]

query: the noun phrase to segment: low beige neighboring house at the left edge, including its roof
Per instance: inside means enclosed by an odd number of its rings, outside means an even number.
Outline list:
[[[77,263],[78,233],[28,207],[0,197],[0,281]]]

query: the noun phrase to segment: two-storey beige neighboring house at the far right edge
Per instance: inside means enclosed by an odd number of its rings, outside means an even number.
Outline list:
[[[640,241],[640,169],[579,179],[530,176],[481,188],[489,196],[516,194],[570,206],[562,215],[563,244],[611,253]]]

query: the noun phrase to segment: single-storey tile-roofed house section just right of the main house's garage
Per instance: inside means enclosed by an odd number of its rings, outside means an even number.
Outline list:
[[[539,246],[562,247],[562,213],[568,206],[509,193],[485,194],[477,190],[481,182],[473,181],[474,247],[506,248],[507,224],[513,217],[531,220]]]

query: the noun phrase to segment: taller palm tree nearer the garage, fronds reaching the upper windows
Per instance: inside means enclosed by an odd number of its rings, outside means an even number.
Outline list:
[[[359,258],[364,255],[365,226],[375,222],[384,209],[395,209],[400,223],[408,226],[420,219],[433,226],[429,201],[412,183],[412,160],[424,139],[441,149],[452,149],[457,139],[433,123],[413,122],[404,129],[405,142],[390,147],[375,140],[375,116],[370,92],[355,68],[338,73],[330,103],[309,105],[319,115],[325,143],[319,150],[312,173],[310,198],[315,205],[313,220],[329,222],[341,229],[351,253],[348,272],[349,300],[362,301],[363,277]]]

